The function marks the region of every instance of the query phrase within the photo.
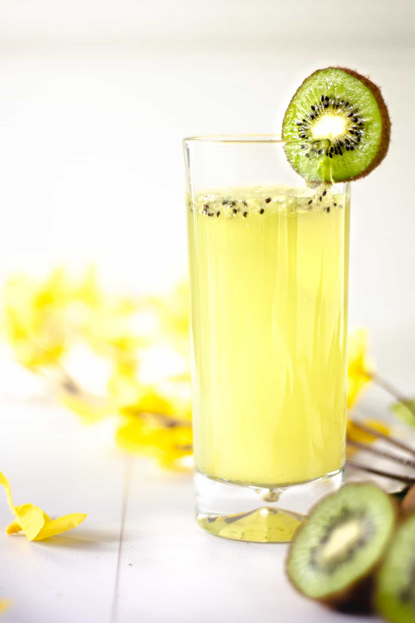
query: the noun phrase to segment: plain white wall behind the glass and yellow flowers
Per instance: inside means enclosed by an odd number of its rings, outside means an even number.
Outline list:
[[[97,261],[108,283],[186,274],[181,138],[278,132],[339,64],[381,85],[389,154],[353,184],[350,326],[414,369],[415,4],[1,0],[1,271]]]

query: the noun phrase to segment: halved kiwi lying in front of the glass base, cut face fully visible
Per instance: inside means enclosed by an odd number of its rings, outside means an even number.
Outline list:
[[[371,611],[374,571],[396,523],[379,487],[351,483],[323,498],[298,528],[287,573],[303,595],[345,612]]]

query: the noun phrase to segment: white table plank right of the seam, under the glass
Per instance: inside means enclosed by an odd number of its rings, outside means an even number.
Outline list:
[[[292,589],[287,546],[226,541],[198,528],[190,477],[136,463],[125,536],[118,623],[345,621]]]

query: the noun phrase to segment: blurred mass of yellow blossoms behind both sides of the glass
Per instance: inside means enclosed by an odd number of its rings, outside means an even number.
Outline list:
[[[79,280],[60,268],[42,282],[10,278],[3,300],[3,327],[17,360],[47,376],[83,422],[122,418],[118,444],[165,466],[191,454],[187,283],[165,295],[128,298],[104,292],[94,267]],[[373,379],[367,350],[366,331],[351,333],[348,409]],[[373,441],[351,422],[348,435]]]

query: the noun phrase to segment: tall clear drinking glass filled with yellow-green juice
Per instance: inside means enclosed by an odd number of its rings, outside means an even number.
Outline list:
[[[288,541],[345,460],[350,188],[276,136],[184,140],[196,513]]]

